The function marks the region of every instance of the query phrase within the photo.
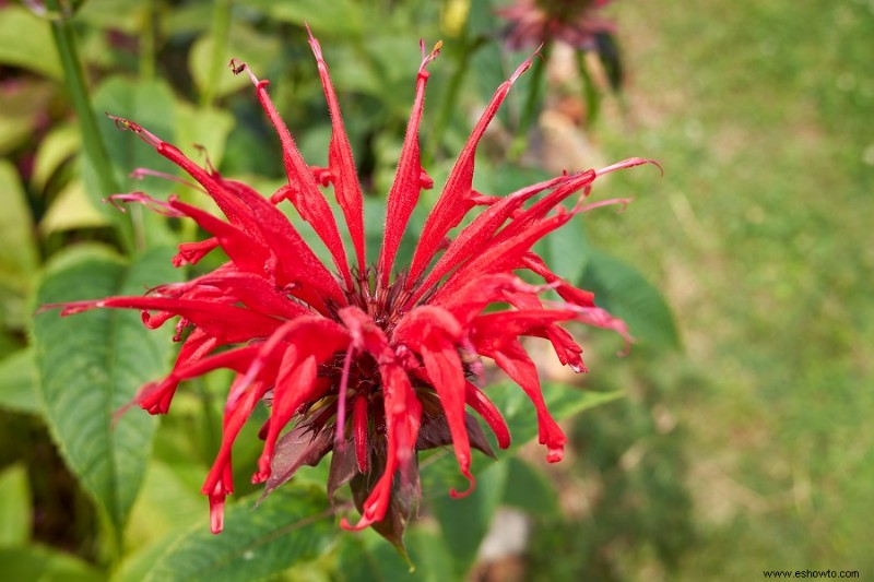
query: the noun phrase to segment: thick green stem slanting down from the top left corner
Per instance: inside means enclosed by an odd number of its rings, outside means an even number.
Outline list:
[[[46,0],[46,5],[49,9],[49,22],[55,48],[58,50],[67,88],[70,92],[70,99],[79,118],[82,146],[85,151],[85,156],[97,175],[101,194],[108,197],[117,193],[119,186],[113,171],[113,164],[109,161],[106,144],[101,136],[94,110],[91,108],[85,75],[82,71],[82,61],[79,58],[75,35],[70,25],[69,14],[61,9],[58,0]],[[119,238],[121,239],[121,246],[130,253],[134,249],[131,225],[128,221],[119,221],[117,224],[120,227]]]

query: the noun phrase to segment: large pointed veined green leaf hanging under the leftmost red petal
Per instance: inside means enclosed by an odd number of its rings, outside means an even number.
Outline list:
[[[37,304],[140,295],[175,281],[169,249],[127,263],[99,247],[78,247],[49,266]],[[118,533],[140,488],[154,418],[113,415],[145,382],[166,373],[168,334],[146,330],[137,312],[98,309],[71,318],[34,318],[45,419],[71,472]],[[172,330],[166,330],[169,332]]]

